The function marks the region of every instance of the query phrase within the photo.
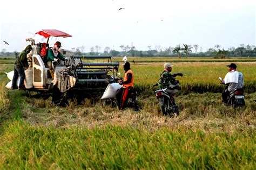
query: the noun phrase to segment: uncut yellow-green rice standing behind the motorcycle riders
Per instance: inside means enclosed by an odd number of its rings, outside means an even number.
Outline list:
[[[166,62],[169,62],[168,60]],[[175,63],[172,73],[183,73],[183,77],[177,76],[184,91],[188,92],[213,92],[218,93],[223,90],[219,84],[218,77],[225,77],[228,63]],[[159,76],[163,72],[163,63],[143,63],[131,64],[135,74],[134,84],[139,89],[151,89],[154,84],[158,83]],[[245,86],[247,93],[254,93],[256,90],[256,65],[254,63],[237,63],[238,71],[244,74]],[[120,71],[123,73],[123,69]]]

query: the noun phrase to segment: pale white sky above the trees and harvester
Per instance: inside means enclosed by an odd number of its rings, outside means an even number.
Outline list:
[[[84,46],[86,52],[96,45],[101,51],[121,51],[121,45],[148,50],[198,44],[198,51],[217,44],[225,49],[256,45],[255,8],[251,0],[1,1],[0,51],[22,51],[25,38],[42,29],[72,35],[51,38],[50,46],[58,40],[64,49]]]

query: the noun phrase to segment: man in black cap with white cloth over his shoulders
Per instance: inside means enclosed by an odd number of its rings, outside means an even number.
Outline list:
[[[223,81],[221,81],[221,84],[225,84],[227,88],[222,93],[223,103],[227,103],[227,97],[230,95],[231,91],[234,91],[235,89],[242,89],[244,86],[244,75],[242,75],[241,72],[237,71],[237,65],[235,63],[231,63],[230,65],[227,65],[228,67],[228,73],[226,74]]]

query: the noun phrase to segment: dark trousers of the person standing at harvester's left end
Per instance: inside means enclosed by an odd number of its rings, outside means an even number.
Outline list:
[[[21,76],[21,79],[19,80],[19,88],[24,87],[24,80],[25,80],[25,72],[22,66],[17,65],[15,63],[14,65],[14,77],[12,77],[12,88],[17,88],[17,80],[18,76]]]

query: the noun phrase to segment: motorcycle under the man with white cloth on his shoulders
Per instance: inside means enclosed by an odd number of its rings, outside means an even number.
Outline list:
[[[219,80],[222,82],[223,79],[219,77]],[[227,85],[225,85],[225,92],[227,92]],[[233,108],[243,107],[245,106],[245,93],[243,89],[234,89],[230,91],[229,95],[227,96],[226,105],[231,105]]]

